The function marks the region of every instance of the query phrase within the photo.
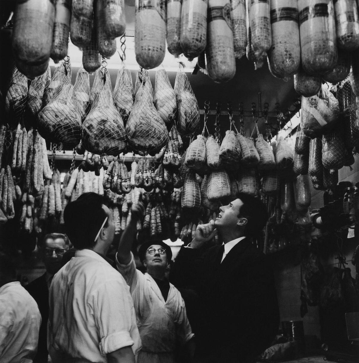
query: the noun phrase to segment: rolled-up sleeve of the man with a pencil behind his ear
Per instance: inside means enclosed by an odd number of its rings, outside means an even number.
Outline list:
[[[93,296],[99,349],[103,355],[134,344],[131,338],[134,309],[131,296],[124,289],[128,290],[124,282],[106,281]]]

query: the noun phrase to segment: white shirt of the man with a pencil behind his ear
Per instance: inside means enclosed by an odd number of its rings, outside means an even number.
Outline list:
[[[107,362],[106,354],[140,337],[130,290],[101,256],[78,250],[55,274],[49,291],[48,347],[54,363],[67,358]]]

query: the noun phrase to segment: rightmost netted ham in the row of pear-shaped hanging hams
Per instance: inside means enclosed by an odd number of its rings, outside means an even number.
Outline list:
[[[177,101],[176,128],[181,135],[194,134],[200,121],[199,107],[197,98],[182,69],[176,74],[175,93]]]

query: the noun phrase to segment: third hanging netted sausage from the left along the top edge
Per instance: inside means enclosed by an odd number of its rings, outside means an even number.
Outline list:
[[[91,42],[93,4],[94,0],[72,0],[70,39],[79,48]]]

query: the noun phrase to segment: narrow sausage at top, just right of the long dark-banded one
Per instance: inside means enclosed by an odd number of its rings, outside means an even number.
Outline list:
[[[231,0],[231,20],[234,55],[240,59],[246,54],[247,46],[245,0]]]

